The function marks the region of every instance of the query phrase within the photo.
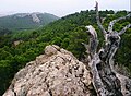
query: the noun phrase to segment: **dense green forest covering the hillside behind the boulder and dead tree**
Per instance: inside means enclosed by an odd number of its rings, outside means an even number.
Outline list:
[[[126,14],[128,14],[127,11],[117,13],[114,11],[100,11],[102,22],[105,27],[111,20]],[[131,19],[118,22],[114,28],[120,31],[129,23],[131,23]],[[13,75],[27,62],[43,53],[47,45],[56,44],[68,49],[78,59],[82,60],[85,53],[82,43],[88,41],[88,35],[84,28],[86,25],[93,25],[96,28],[99,44],[103,45],[102,33],[97,27],[95,11],[93,10],[70,14],[39,29],[2,34],[0,36],[0,95],[7,89]],[[15,41],[19,41],[19,44],[14,45]],[[131,28],[122,36],[120,49],[116,56],[116,62],[127,67],[129,71],[131,71],[130,44]]]

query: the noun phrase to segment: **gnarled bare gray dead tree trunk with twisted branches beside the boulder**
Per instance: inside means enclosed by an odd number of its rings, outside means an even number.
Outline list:
[[[97,25],[100,32],[103,32],[105,45],[98,50],[97,34],[92,25],[86,26],[86,32],[90,34],[90,44],[83,44],[88,55],[86,60],[93,75],[93,86],[98,96],[130,96],[131,80],[115,71],[114,56],[119,48],[120,36],[131,27],[131,24],[124,26],[119,33],[114,31],[112,27],[118,21],[130,17],[131,13],[111,21],[108,31],[106,31],[99,21],[97,2],[95,9]]]

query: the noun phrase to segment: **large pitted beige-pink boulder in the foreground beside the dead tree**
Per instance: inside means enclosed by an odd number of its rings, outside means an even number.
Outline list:
[[[15,74],[3,96],[91,96],[90,86],[86,67],[52,45]]]

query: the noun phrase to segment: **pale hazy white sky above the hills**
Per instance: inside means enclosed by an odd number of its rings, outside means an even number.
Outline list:
[[[98,1],[99,10],[131,9],[131,0],[0,0],[0,14],[47,12],[64,16],[81,10],[94,10],[95,1]]]

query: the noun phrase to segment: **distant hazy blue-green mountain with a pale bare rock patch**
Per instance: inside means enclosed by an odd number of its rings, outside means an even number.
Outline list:
[[[45,26],[59,17],[49,13],[16,13],[0,17],[0,28],[33,29]]]

